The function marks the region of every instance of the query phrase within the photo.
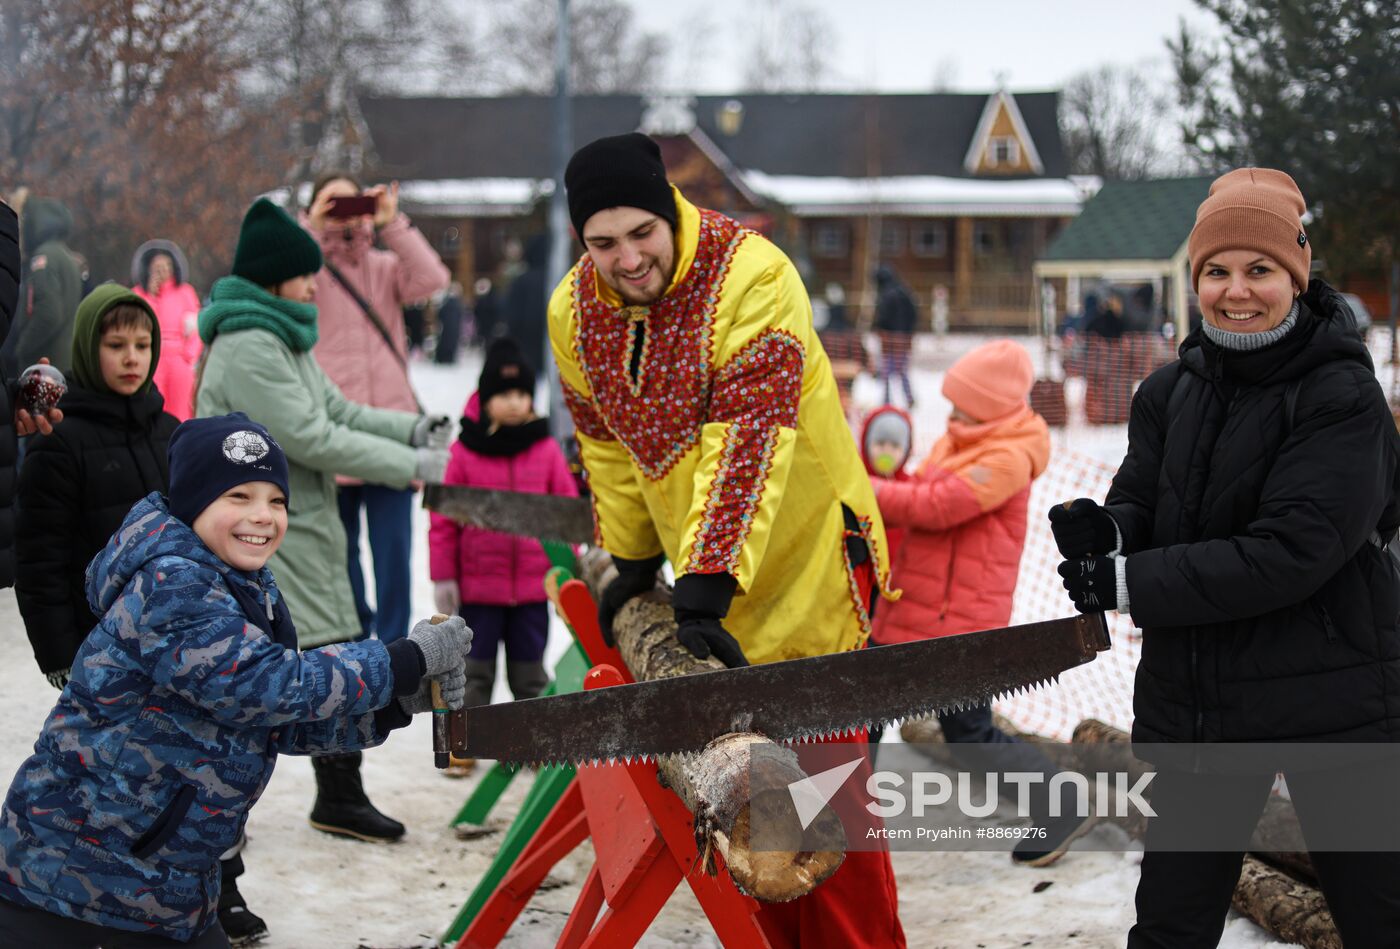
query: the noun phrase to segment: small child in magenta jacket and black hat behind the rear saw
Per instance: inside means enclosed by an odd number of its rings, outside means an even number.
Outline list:
[[[491,343],[476,393],[466,403],[445,484],[578,497],[564,452],[535,416],[535,372],[510,339]],[[545,644],[549,560],[538,540],[470,528],[430,515],[430,571],[440,613],[458,613],[475,631],[466,659],[466,707],[491,701],[497,647],[517,698],[549,682]]]

